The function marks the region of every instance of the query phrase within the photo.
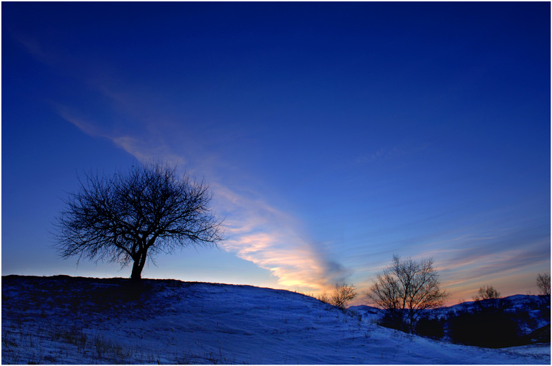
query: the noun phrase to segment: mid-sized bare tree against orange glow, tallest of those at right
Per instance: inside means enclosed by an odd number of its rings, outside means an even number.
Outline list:
[[[393,262],[377,274],[367,293],[373,303],[387,310],[387,315],[397,321],[400,329],[413,332],[424,309],[435,309],[449,296],[440,289],[439,275],[433,268],[433,259],[401,261],[393,256]]]

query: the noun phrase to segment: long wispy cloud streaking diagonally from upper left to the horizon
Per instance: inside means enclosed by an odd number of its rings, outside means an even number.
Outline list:
[[[49,50],[46,54],[34,39],[20,38],[18,41],[32,57],[58,70],[59,62],[52,60],[75,59],[67,52],[56,54]],[[103,117],[99,123],[96,112],[83,113],[84,105],[79,108],[54,102],[52,105],[59,116],[89,136],[108,139],[139,161],[178,163],[179,167],[187,165],[195,175],[207,175],[214,192],[214,206],[226,216],[228,240],[221,247],[270,271],[282,287],[318,291],[329,289],[350,276],[350,271],[330,259],[324,243],[314,243],[302,233],[302,224],[297,218],[277,210],[255,192],[244,190],[243,185],[236,189],[221,183],[218,170],[224,163],[213,157],[216,154],[204,150],[193,132],[176,122],[174,116],[159,112],[167,109],[160,95],[126,86],[120,77],[114,78],[119,74],[117,70],[105,64],[98,68],[97,62],[97,59],[94,62],[81,59],[63,63],[68,68],[62,72],[79,79],[92,90],[95,100],[102,103],[97,107],[103,110],[103,115],[116,119],[116,125],[109,125]],[[79,72],[70,70],[73,64],[80,65]]]

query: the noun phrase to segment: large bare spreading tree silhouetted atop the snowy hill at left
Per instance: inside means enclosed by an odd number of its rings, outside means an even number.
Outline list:
[[[208,185],[187,173],[177,176],[175,167],[132,166],[110,177],[87,174],[80,183],[57,218],[55,247],[62,258],[132,263],[130,278],[139,279],[146,259],[222,240]]]

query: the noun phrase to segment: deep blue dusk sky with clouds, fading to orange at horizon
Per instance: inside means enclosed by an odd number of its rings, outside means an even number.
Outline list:
[[[146,278],[364,292],[398,254],[449,303],[537,293],[550,6],[3,2],[2,275],[130,276],[50,232],[78,176],[155,159],[210,184],[228,240]]]

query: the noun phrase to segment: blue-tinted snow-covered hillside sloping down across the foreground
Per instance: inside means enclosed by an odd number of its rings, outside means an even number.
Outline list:
[[[550,345],[411,336],[276,289],[68,276],[2,278],[2,363],[550,364]]]

